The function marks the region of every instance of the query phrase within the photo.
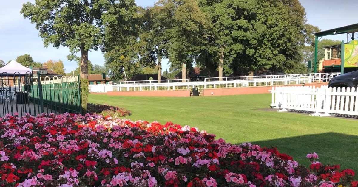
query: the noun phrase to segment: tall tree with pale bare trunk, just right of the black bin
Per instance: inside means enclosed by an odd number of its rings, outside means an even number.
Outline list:
[[[210,53],[218,56],[219,80],[222,80],[227,61],[237,55],[253,52],[248,44],[257,42],[252,39],[257,1],[199,0],[198,4],[209,15],[213,25],[215,37],[210,43]]]

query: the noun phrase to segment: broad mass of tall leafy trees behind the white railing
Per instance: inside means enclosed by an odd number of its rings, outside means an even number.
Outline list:
[[[21,14],[45,46],[69,47],[70,60],[81,52],[84,78],[105,71],[122,79],[124,71],[131,77],[155,68],[160,79],[162,59],[169,59],[169,78],[180,70],[187,77],[194,64],[219,77],[303,73],[320,31],[307,23],[299,0],[158,0],[146,8],[134,0],[36,0]],[[98,49],[105,67],[88,61],[88,51]]]

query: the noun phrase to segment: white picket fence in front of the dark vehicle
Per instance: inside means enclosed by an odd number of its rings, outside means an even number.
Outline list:
[[[358,115],[357,88],[272,87],[271,107],[278,112],[301,110],[310,115]]]

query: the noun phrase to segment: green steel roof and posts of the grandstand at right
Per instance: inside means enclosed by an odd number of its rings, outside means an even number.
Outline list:
[[[325,31],[321,31],[318,33],[315,33],[315,51],[314,51],[314,73],[317,73],[317,53],[318,53],[318,37],[322,37],[322,36],[329,36],[329,35],[336,35],[336,34],[345,34],[345,33],[350,33],[350,32],[354,32],[354,31],[358,31],[358,23],[356,24],[352,24],[352,25],[347,25],[347,26],[342,26],[342,27],[338,27],[335,29],[329,29],[329,30],[325,30]],[[344,40],[342,40],[342,44],[341,44],[342,49],[344,49]],[[344,64],[344,53],[342,53],[342,59],[341,59],[341,64]],[[341,74],[343,74],[343,68],[344,66],[341,66]]]

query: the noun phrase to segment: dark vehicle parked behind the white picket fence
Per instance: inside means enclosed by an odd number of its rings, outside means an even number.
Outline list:
[[[329,81],[328,87],[358,87],[358,70],[333,77]]]

